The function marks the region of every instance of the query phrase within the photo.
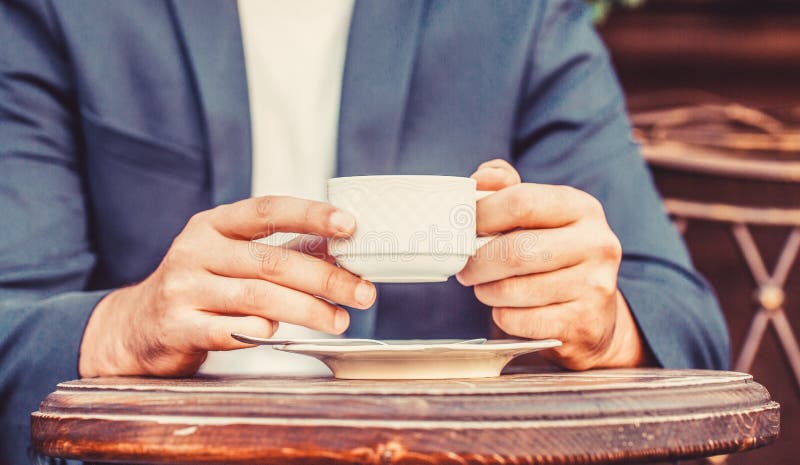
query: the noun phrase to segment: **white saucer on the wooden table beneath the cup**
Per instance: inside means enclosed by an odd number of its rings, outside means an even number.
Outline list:
[[[561,345],[555,339],[493,340],[484,344],[456,340],[382,342],[386,345],[293,343],[274,348],[315,357],[341,379],[445,379],[499,376],[512,358]]]

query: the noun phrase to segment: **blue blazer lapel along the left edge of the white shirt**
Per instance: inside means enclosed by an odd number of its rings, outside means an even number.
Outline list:
[[[249,197],[250,106],[236,2],[172,0],[172,14],[203,111],[213,203]]]

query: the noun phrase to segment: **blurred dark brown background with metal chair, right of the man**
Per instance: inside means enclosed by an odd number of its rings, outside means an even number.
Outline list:
[[[719,295],[731,366],[781,404],[777,443],[708,462],[800,463],[800,1],[593,5],[636,137]]]

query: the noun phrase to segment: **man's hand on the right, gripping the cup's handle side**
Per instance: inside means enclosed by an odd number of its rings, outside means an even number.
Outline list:
[[[478,189],[498,191],[478,202],[478,232],[504,234],[457,278],[493,307],[495,323],[515,336],[560,339],[552,355],[567,368],[643,364],[646,349],[617,289],[622,249],[600,202],[572,187],[522,184],[503,160],[472,177]]]

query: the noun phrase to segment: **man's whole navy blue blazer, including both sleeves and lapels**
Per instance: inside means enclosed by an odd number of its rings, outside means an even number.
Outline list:
[[[622,243],[619,288],[658,361],[725,368],[714,295],[630,134],[580,1],[355,6],[339,175],[467,176],[502,157],[524,181],[588,191]],[[235,2],[2,4],[0,461],[21,460],[29,413],[78,376],[98,300],[149,274],[192,214],[248,197],[250,159]],[[490,327],[454,279],[380,286],[376,307],[355,334]]]

